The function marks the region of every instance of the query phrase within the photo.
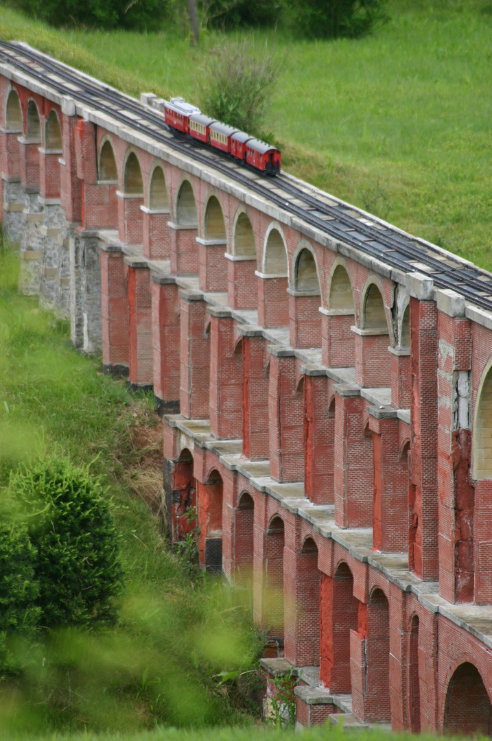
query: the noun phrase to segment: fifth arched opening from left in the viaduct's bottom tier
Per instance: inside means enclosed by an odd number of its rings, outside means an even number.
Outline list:
[[[319,570],[318,547],[313,538],[306,538],[302,545],[298,574],[296,574],[295,605],[296,664],[317,666],[319,663]]]

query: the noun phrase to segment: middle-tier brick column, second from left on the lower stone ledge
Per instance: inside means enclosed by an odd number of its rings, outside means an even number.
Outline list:
[[[242,436],[242,341],[236,345],[234,319],[228,309],[209,306],[210,432],[215,437]]]

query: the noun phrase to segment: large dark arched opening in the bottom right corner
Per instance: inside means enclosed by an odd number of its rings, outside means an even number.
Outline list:
[[[445,733],[490,736],[491,710],[491,701],[479,671],[468,662],[459,665],[446,694]]]

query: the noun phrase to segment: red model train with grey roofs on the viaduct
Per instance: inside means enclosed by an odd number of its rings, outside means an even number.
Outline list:
[[[186,103],[182,98],[164,101],[164,115],[168,126],[198,139],[199,142],[210,144],[210,147],[230,154],[268,175],[280,172],[281,154],[276,147],[233,126],[204,116],[199,108]]]

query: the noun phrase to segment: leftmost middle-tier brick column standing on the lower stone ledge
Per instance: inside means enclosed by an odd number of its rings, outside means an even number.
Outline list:
[[[180,409],[187,419],[210,413],[210,326],[201,293],[180,290]]]

